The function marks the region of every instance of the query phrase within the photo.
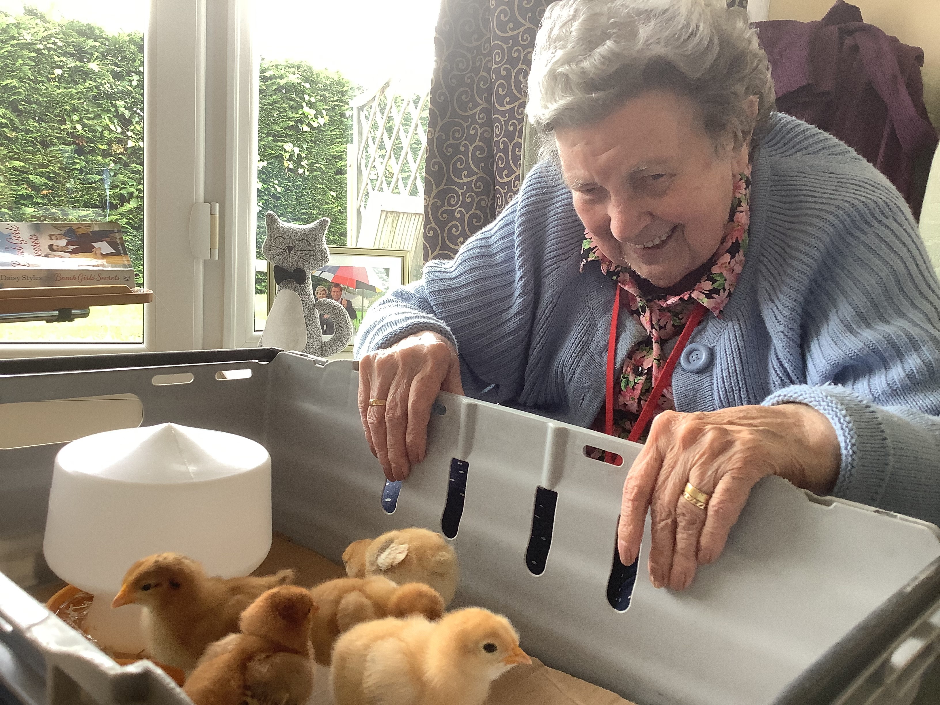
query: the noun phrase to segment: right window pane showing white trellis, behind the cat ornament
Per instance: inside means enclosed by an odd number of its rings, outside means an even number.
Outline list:
[[[261,254],[266,211],[301,224],[328,216],[330,244],[415,247],[420,253],[420,218],[408,233],[397,232],[394,243],[384,243],[375,232],[380,219],[366,217],[374,227],[364,233],[367,242],[357,240],[373,193],[409,196],[421,211],[439,8],[440,0],[406,6],[386,0],[266,0],[258,8],[252,27],[260,56],[255,330],[263,329],[267,316]],[[310,27],[317,27],[315,40]],[[360,144],[351,168],[347,155],[354,139]],[[314,279],[315,287],[329,283]],[[357,310],[375,300],[366,290],[344,290],[341,296],[357,302]],[[357,315],[353,327],[360,321]]]

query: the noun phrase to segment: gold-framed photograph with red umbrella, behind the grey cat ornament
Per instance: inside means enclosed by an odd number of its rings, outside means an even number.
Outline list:
[[[352,319],[352,343],[344,352],[352,352],[359,336],[359,326],[369,306],[393,287],[408,284],[411,252],[373,247],[330,245],[330,263],[310,276],[313,294],[318,299],[331,298],[346,308]],[[274,265],[268,262],[268,281],[274,281]],[[276,287],[268,287],[268,310],[274,305]],[[321,317],[323,339],[333,336],[333,322]]]

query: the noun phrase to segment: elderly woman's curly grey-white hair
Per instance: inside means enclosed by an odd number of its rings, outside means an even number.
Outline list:
[[[726,0],[558,0],[545,10],[526,106],[542,158],[557,158],[555,130],[593,124],[650,88],[691,99],[716,150],[752,135],[754,144],[775,109],[767,55]]]

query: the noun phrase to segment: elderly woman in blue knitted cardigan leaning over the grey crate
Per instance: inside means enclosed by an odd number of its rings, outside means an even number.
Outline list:
[[[940,522],[940,287],[917,225],[852,149],[774,112],[743,12],[560,0],[527,110],[546,158],[519,195],[363,324],[388,478],[424,457],[444,390],[648,432],[619,554],[649,509],[657,587],[721,553],[767,475]]]

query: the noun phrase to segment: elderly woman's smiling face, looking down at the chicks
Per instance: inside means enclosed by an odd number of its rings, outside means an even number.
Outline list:
[[[555,136],[574,209],[615,264],[666,288],[712,257],[748,145],[716,153],[693,102],[649,90]]]

